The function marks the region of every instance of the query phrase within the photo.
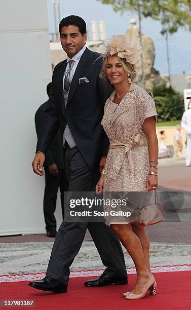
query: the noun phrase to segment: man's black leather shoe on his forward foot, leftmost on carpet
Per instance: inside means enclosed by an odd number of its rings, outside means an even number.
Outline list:
[[[46,277],[41,281],[30,282],[28,285],[41,291],[50,291],[54,293],[66,293],[67,292],[66,284],[61,283],[50,277]]]

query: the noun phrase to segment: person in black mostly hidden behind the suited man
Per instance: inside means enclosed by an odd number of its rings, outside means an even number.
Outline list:
[[[50,97],[51,83],[47,85],[47,95]],[[41,123],[43,114],[47,109],[49,100],[43,103],[35,113],[35,127],[36,134],[39,138]],[[63,197],[63,170],[64,158],[63,158],[63,145],[61,139],[60,129],[56,134],[56,137],[49,149],[46,160],[44,162],[45,170],[45,193],[43,201],[43,210],[46,223],[47,237],[56,237],[56,218],[54,212],[56,210],[57,192],[60,187],[60,198],[62,206],[62,216],[64,218],[64,197]]]

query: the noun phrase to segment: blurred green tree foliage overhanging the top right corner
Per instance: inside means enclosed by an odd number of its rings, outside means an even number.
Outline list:
[[[191,31],[191,0],[98,0],[109,4],[116,12],[138,12],[142,16],[158,20],[162,34],[174,33],[179,27]]]

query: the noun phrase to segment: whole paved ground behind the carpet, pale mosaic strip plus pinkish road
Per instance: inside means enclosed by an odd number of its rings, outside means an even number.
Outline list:
[[[184,264],[191,261],[191,167],[184,159],[160,160],[159,190],[182,191],[183,207],[169,212],[172,219],[147,228],[151,241],[151,265]],[[177,208],[178,209],[178,208]],[[45,272],[50,257],[53,238],[46,235],[0,237],[1,274]],[[89,242],[90,241],[90,242]],[[127,266],[132,259],[125,253]],[[103,268],[97,250],[87,232],[83,246],[71,269]]]

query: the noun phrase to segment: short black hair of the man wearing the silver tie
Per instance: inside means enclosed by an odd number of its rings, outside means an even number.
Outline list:
[[[87,32],[86,30],[86,22],[85,20],[80,17],[80,16],[77,16],[77,15],[70,15],[70,16],[67,16],[65,18],[63,18],[61,21],[60,21],[60,24],[59,24],[59,32],[61,34],[61,30],[62,30],[62,27],[67,27],[67,26],[77,26],[79,27],[79,31],[81,32],[82,35],[84,35],[84,33]]]

